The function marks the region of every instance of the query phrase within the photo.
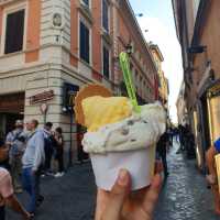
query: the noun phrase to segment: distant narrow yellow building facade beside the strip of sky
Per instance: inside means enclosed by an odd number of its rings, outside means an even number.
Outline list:
[[[156,44],[150,43],[150,48],[152,55],[155,61],[157,76],[158,76],[158,100],[163,103],[163,106],[168,109],[168,79],[165,77],[164,72],[162,69],[162,63],[164,62],[163,54]]]

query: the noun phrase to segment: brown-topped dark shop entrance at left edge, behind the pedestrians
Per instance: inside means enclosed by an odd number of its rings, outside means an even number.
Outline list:
[[[0,96],[0,138],[13,129],[15,120],[24,118],[24,92]]]

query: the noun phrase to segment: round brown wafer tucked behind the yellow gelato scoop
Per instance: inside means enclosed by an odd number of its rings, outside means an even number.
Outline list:
[[[94,97],[94,96],[111,97],[112,92],[106,87],[98,84],[89,84],[82,87],[77,92],[76,98],[75,98],[74,110],[76,114],[76,121],[81,125],[85,125],[85,116],[82,111],[81,101],[88,97]]]

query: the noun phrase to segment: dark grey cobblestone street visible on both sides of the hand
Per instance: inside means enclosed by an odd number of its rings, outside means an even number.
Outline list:
[[[168,155],[169,177],[164,183],[155,220],[217,220],[211,191],[196,169],[195,161],[176,154],[177,145]],[[96,187],[90,165],[75,165],[64,177],[45,177],[42,183],[45,201],[37,211],[37,220],[92,219]],[[26,196],[21,195],[23,204]],[[19,217],[8,212],[7,220]]]

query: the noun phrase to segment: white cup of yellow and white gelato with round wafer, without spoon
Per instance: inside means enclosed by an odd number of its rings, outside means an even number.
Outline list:
[[[144,105],[136,112],[127,97],[112,97],[101,86],[92,88],[79,91],[75,112],[77,121],[88,129],[81,144],[90,154],[97,186],[111,190],[122,168],[131,175],[132,190],[148,186],[155,145],[165,131],[163,107]]]

